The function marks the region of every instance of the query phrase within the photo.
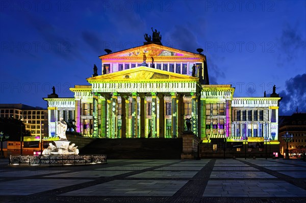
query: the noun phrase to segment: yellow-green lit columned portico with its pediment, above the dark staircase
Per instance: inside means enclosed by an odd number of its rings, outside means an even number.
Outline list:
[[[87,81],[93,94],[93,137],[175,138],[186,129],[185,119],[198,133],[201,84],[196,77],[140,66]]]

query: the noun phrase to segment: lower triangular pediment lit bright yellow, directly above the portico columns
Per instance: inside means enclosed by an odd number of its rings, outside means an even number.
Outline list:
[[[96,82],[143,82],[143,81],[198,81],[198,78],[172,73],[146,66],[140,66],[132,69],[118,71],[105,75],[87,78],[89,83]]]

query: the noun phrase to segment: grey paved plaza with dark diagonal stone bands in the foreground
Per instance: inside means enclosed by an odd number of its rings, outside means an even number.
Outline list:
[[[8,166],[0,202],[306,202],[298,159],[108,160]]]

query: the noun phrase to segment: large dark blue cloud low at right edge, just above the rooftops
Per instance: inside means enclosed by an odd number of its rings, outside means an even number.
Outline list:
[[[306,74],[296,75],[286,80],[286,91],[279,94],[283,97],[279,104],[280,115],[291,115],[298,107],[299,112],[306,112]]]

